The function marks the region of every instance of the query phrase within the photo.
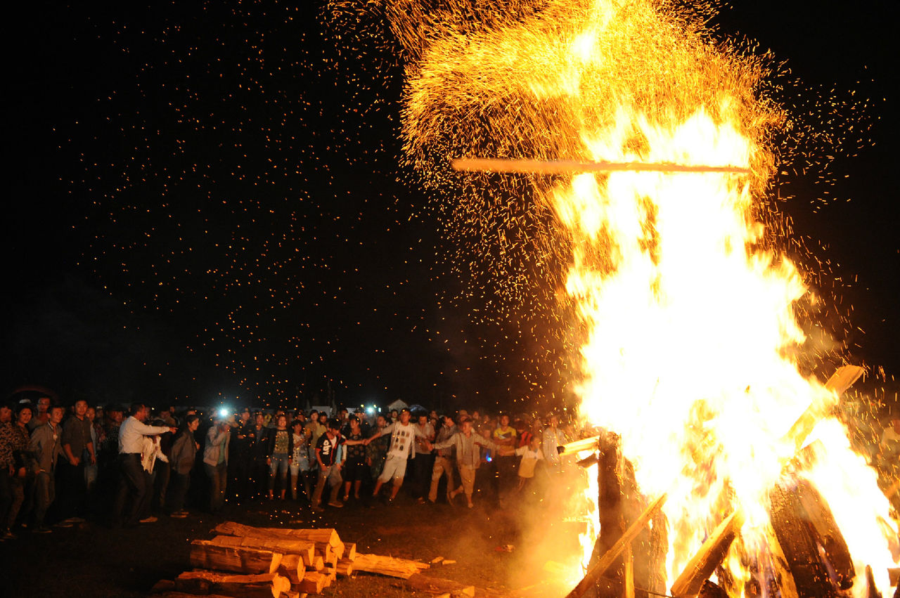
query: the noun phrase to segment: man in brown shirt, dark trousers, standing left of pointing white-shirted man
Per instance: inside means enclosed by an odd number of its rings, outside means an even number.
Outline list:
[[[85,510],[85,466],[97,462],[91,441],[92,424],[86,414],[87,401],[76,400],[75,414],[62,428],[62,451],[66,460],[60,464],[60,479],[64,485],[60,506],[61,513],[72,522],[84,521],[80,515]]]

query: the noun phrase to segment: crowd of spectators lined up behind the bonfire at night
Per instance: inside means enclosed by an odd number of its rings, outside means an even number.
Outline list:
[[[564,485],[558,447],[593,433],[557,415],[409,409],[205,415],[141,404],[0,404],[0,540],[93,517],[112,527],[219,512],[229,502],[292,501],[320,512],[391,504],[539,504]],[[882,436],[900,454],[900,416]],[[554,483],[555,482],[555,483]]]

